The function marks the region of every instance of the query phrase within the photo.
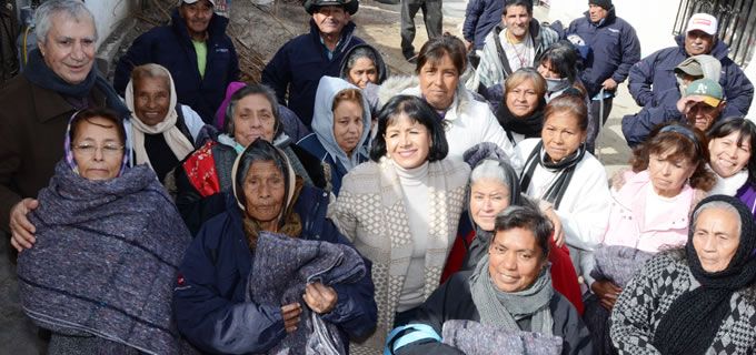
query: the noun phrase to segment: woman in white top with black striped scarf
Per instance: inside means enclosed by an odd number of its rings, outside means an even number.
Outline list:
[[[598,245],[609,219],[609,186],[604,165],[586,152],[588,115],[583,97],[563,94],[544,112],[540,139],[517,144],[516,160],[524,162],[520,189],[550,203],[561,220],[570,257],[585,277],[583,254]]]

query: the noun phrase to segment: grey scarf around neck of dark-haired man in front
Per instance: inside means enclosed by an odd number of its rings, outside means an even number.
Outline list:
[[[519,331],[517,321],[529,317],[531,332],[551,335],[554,318],[549,302],[554,288],[548,267],[540,271],[538,278],[527,290],[508,293],[496,288],[488,264],[488,255],[485,255],[470,275],[470,292],[480,314],[480,323]]]

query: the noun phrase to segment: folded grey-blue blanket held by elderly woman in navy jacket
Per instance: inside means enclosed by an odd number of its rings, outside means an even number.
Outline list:
[[[352,247],[261,232],[249,275],[248,302],[286,305],[302,302],[308,283],[326,286],[365,277],[362,257]],[[301,322],[268,354],[346,354],[342,333],[302,304]]]

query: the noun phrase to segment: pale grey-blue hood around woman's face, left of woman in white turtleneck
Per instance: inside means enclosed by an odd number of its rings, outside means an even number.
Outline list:
[[[365,142],[370,135],[370,104],[365,95],[362,95],[362,134],[357,142],[357,148],[351,156],[336,142],[334,135],[334,98],[347,89],[359,88],[348,83],[344,79],[322,77],[318,83],[318,91],[315,93],[315,108],[312,115],[312,132],[320,141],[320,144],[326,149],[334,161],[340,162],[344,168],[351,170],[359,164],[359,155],[367,156],[367,148]]]

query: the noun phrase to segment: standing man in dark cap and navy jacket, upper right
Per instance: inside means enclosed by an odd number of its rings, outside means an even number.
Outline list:
[[[569,24],[567,38],[570,36],[578,36],[588,48],[580,80],[591,98],[590,119],[600,128],[611,111],[617,84],[640,60],[640,42],[633,26],[616,16],[611,0],[589,0],[585,17]],[[601,103],[604,112],[599,116]]]

